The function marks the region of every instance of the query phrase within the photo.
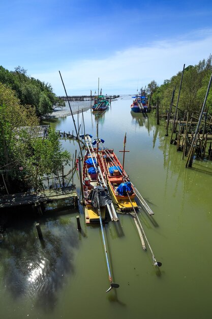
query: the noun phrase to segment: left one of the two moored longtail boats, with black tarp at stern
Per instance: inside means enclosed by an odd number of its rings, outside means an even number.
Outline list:
[[[112,201],[108,190],[99,182],[96,156],[89,148],[83,157],[82,164],[82,184],[83,184],[83,204],[85,213],[85,223],[105,221],[106,205]]]

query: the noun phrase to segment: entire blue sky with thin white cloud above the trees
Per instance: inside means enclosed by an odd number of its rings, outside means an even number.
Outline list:
[[[65,95],[135,94],[212,54],[212,2],[9,0],[0,3],[0,65]]]

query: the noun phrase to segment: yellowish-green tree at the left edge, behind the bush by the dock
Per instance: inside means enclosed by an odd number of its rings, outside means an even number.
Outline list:
[[[0,169],[9,189],[12,180],[19,179],[18,168],[30,153],[30,137],[24,127],[35,125],[35,109],[21,105],[16,93],[0,83]]]

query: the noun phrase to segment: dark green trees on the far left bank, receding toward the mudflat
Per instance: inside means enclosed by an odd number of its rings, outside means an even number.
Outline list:
[[[22,105],[32,105],[39,117],[51,113],[56,107],[65,106],[64,101],[53,93],[51,85],[28,76],[27,71],[20,66],[15,71],[0,66],[0,82],[16,92]]]

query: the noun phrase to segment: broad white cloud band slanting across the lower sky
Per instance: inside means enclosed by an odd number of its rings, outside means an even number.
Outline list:
[[[150,81],[161,85],[183,69],[184,63],[198,64],[211,53],[212,31],[198,31],[191,40],[163,40],[143,47],[114,52],[107,59],[75,61],[60,69],[69,95],[90,94],[97,90],[98,77],[104,94],[134,94]],[[58,70],[32,76],[51,83],[57,95],[65,95]]]

